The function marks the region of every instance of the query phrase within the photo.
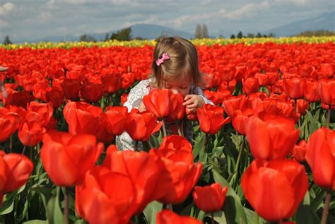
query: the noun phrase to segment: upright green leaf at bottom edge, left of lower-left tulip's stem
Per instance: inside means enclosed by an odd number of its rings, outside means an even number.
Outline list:
[[[64,222],[64,216],[59,205],[59,187],[57,187],[56,192],[56,195],[52,196],[47,202],[47,219],[50,224]]]

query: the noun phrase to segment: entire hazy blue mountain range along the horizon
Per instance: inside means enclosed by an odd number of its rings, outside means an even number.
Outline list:
[[[323,13],[317,18],[308,18],[305,20],[298,20],[293,23],[288,23],[286,25],[281,25],[276,28],[272,28],[270,30],[260,30],[261,34],[269,34],[274,33],[276,37],[288,37],[293,36],[298,33],[301,33],[305,30],[335,30],[335,11],[331,13]],[[110,30],[107,31],[109,35],[112,33],[117,33],[118,30]],[[244,35],[243,30],[241,30]],[[228,33],[223,34],[225,37],[230,37],[231,34],[229,30]],[[106,33],[86,33],[86,35],[90,35],[95,38],[95,40],[104,40]],[[132,37],[142,37],[148,40],[155,39],[160,35],[178,35],[180,37],[184,37],[187,39],[194,38],[194,33],[187,33],[182,30],[176,30],[174,28],[167,28],[161,25],[153,25],[153,24],[136,24],[131,25],[131,35]],[[218,37],[221,33],[211,32],[209,30],[210,37]],[[235,35],[237,35],[235,33]],[[53,35],[49,37],[43,37],[36,40],[13,40],[13,42],[40,42],[40,41],[51,41],[51,42],[59,42],[59,41],[78,41],[78,35]]]

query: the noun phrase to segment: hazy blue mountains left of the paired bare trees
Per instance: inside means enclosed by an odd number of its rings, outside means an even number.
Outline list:
[[[118,30],[112,30],[108,33],[112,35],[112,33],[117,33]],[[94,37],[95,40],[105,40],[106,33],[86,33],[86,35],[90,35]],[[84,34],[84,33],[83,33]],[[160,35],[177,35],[180,37],[184,37],[187,39],[194,38],[194,35],[191,33],[187,33],[181,30],[176,30],[173,28],[167,28],[161,25],[153,25],[153,24],[135,24],[131,25],[131,36],[141,37],[148,40],[153,40],[155,37],[159,37]],[[80,36],[77,35],[52,35],[48,37],[43,37],[36,40],[14,40],[13,42],[41,42],[41,41],[51,41],[51,42],[59,42],[59,41],[78,41]]]

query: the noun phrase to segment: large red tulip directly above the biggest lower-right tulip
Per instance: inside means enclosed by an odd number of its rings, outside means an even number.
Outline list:
[[[254,158],[286,158],[299,138],[293,119],[261,112],[249,118],[245,132]]]

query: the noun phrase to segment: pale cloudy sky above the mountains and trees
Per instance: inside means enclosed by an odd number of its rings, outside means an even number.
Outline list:
[[[335,10],[334,0],[0,0],[0,41],[107,33],[153,23],[210,35],[257,33]]]

